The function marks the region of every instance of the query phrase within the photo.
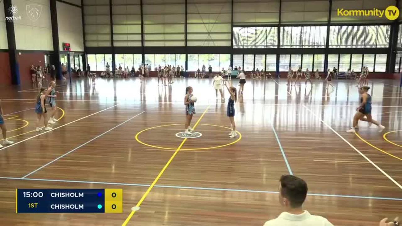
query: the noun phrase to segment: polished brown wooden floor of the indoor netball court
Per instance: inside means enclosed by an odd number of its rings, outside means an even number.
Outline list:
[[[203,136],[185,142],[127,225],[263,225],[281,213],[278,179],[290,172],[308,183],[304,208],[334,225],[378,225],[401,214],[398,82],[370,80],[373,118],[387,129],[379,134],[360,123],[361,138],[345,132],[359,102],[355,82],[335,80],[328,92],[323,81],[313,82],[289,88],[285,80],[247,80],[235,105],[242,138],[213,149],[202,148],[236,139],[224,128],[230,127],[227,101],[215,101],[208,79],[177,79],[171,86],[158,86],[155,78],[58,84],[57,105],[65,115],[39,136],[32,131],[35,87],[4,87],[6,125],[17,129],[8,137],[17,144],[0,149],[1,225],[123,224],[183,141],[175,136],[183,125],[171,124],[184,123],[186,86],[198,97],[192,123],[206,111],[197,125]],[[140,131],[141,142],[162,148],[140,144]],[[394,144],[383,138],[390,131],[386,138]],[[122,188],[123,213],[15,214],[16,188]]]

